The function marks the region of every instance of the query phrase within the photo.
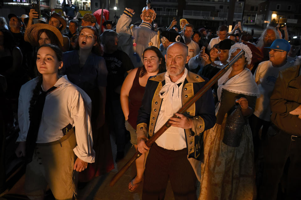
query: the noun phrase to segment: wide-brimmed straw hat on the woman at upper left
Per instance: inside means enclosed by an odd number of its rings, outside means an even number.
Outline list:
[[[59,39],[61,46],[62,47],[64,46],[63,36],[62,36],[61,32],[59,31],[59,29],[57,29],[56,27],[51,26],[49,24],[38,23],[38,24],[30,25],[29,27],[27,27],[25,29],[24,40],[26,42],[29,42],[32,46],[35,46],[35,47],[39,46],[38,32],[41,29],[47,29],[47,30],[50,30],[51,32],[53,32],[56,35],[56,37]]]

